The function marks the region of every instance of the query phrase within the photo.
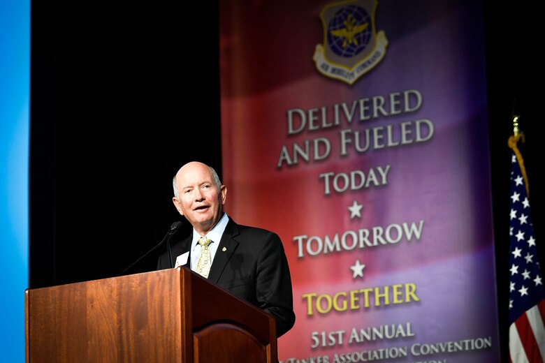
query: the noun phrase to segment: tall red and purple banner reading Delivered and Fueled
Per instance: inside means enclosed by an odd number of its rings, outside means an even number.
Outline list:
[[[219,1],[226,212],[284,243],[281,362],[499,362],[482,4]]]

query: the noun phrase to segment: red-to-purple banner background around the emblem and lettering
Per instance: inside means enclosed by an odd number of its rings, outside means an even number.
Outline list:
[[[376,31],[384,59],[349,85],[319,73],[326,1],[220,1],[221,141],[226,211],[238,223],[268,228],[284,243],[296,325],[279,341],[279,360],[375,350],[412,343],[491,337],[492,348],[437,356],[449,362],[498,362],[497,302],[488,155],[482,9],[472,1],[379,1]],[[287,110],[328,107],[418,89],[422,107],[368,121],[344,121],[288,135]],[[340,156],[339,132],[428,119],[427,142]],[[277,168],[293,143],[327,138],[324,161]],[[324,172],[386,168],[388,184],[324,195]],[[357,200],[361,218],[350,218]],[[419,223],[421,239],[298,257],[293,237]],[[356,260],[364,277],[352,278]],[[419,302],[307,316],[303,294],[414,283]],[[415,336],[311,348],[312,332],[411,323]],[[407,357],[396,362],[412,362]],[[422,357],[420,357],[422,359]]]

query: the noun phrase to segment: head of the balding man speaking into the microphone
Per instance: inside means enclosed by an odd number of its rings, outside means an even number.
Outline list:
[[[180,214],[205,235],[219,221],[223,214],[226,187],[217,188],[208,166],[188,163],[176,174],[179,199],[173,202]]]

